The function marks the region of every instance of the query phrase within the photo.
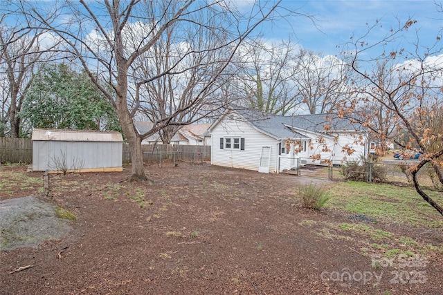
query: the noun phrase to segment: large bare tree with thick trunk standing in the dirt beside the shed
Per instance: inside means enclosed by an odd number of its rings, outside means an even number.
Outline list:
[[[65,3],[35,6],[24,10],[28,17],[41,22],[41,27],[51,30],[63,39],[66,52],[78,59],[91,80],[114,105],[125,138],[132,152],[131,180],[145,180],[141,141],[172,124],[180,113],[188,113],[206,97],[210,88],[217,86],[217,79],[235,55],[237,48],[262,21],[269,19],[280,1],[253,4],[251,13],[239,13],[229,1],[107,1]],[[29,5],[32,5],[30,3]],[[61,5],[61,6],[60,6]],[[50,11],[44,11],[44,8]],[[30,12],[30,13],[28,13]],[[200,17],[201,12],[205,17]],[[56,20],[56,21],[55,21]],[[217,21],[213,26],[211,21]],[[210,48],[192,48],[185,42],[184,53],[159,73],[138,77],[134,70],[145,54],[154,51],[167,31],[181,30],[187,36],[198,38],[211,32],[219,40]],[[178,46],[178,44],[177,44]],[[142,86],[165,75],[179,74],[188,68],[188,59],[199,59],[201,54],[225,52],[223,59],[207,62],[208,67],[217,66],[206,77],[206,82],[184,104],[166,117],[157,120],[156,127],[146,134],[137,133],[133,117],[141,109]],[[185,64],[183,66],[183,63]],[[192,67],[191,67],[192,68]],[[106,81],[109,87],[103,86]]]

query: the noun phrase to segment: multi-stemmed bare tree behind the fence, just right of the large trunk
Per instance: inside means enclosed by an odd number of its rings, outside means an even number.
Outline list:
[[[150,9],[152,12],[154,9]],[[206,16],[206,11],[201,10],[195,13],[194,21],[205,23],[210,28],[222,26],[219,23],[221,19],[205,20]],[[170,143],[181,126],[211,117],[217,108],[233,103],[220,95],[219,90],[226,83],[225,77],[230,76],[226,61],[231,53],[228,50],[208,50],[227,41],[227,35],[214,34],[213,30],[201,30],[196,34],[192,27],[174,23],[166,28],[150,50],[143,53],[141,59],[134,61],[135,103],[139,112],[154,123],[154,129],[164,126],[159,131],[163,143]],[[171,72],[172,67],[174,70]],[[211,81],[215,76],[217,79]],[[185,106],[192,107],[177,112]],[[169,118],[166,126],[163,123],[165,118]]]

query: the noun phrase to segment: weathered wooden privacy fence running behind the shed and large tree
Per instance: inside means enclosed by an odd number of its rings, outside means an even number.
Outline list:
[[[203,162],[210,160],[210,146],[185,146],[171,144],[143,145],[145,162],[177,160]],[[0,137],[0,164],[33,162],[33,141],[30,138]],[[123,144],[123,162],[131,162],[131,151]]]

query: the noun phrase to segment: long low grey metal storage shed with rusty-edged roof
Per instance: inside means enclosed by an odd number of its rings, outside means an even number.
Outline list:
[[[33,171],[123,171],[118,132],[34,129]]]

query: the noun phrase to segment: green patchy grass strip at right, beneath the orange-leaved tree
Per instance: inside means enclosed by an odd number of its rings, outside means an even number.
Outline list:
[[[439,192],[430,192],[442,202]],[[327,191],[330,197],[326,207],[365,214],[377,220],[396,222],[415,227],[443,227],[441,216],[408,187],[365,182],[341,182]]]

